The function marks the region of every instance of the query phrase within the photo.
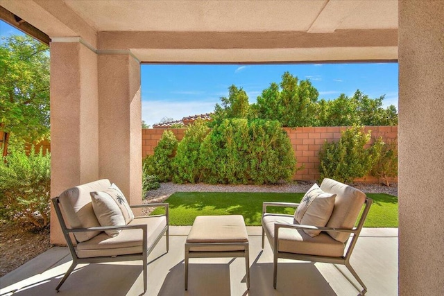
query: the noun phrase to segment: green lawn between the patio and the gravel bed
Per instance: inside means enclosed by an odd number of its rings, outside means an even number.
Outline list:
[[[364,227],[398,227],[398,198],[388,194],[367,194],[373,199]],[[261,225],[262,202],[300,202],[304,193],[221,193],[178,192],[169,202],[170,225],[192,225],[196,216],[242,215],[246,225]],[[267,208],[275,213],[293,214],[291,208]],[[157,209],[153,214],[160,214]]]

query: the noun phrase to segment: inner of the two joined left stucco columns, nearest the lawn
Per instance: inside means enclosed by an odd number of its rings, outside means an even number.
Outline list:
[[[99,175],[142,203],[140,64],[128,54],[99,54]]]

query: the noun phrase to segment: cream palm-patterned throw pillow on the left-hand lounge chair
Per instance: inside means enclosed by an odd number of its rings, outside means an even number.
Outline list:
[[[111,184],[106,191],[93,191],[89,194],[94,214],[101,226],[124,226],[134,219],[133,211],[116,184]],[[117,236],[120,232],[121,230],[105,231],[109,236]]]

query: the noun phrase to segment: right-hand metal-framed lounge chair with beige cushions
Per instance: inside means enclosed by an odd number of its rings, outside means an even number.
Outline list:
[[[311,187],[311,189],[313,188]],[[319,189],[321,191],[318,192],[325,194],[324,196],[333,202],[330,213],[325,214],[327,220],[325,227],[298,223],[296,220],[300,218],[297,216],[298,210],[296,210],[295,216],[266,212],[267,207],[302,207],[302,203],[307,202],[305,197],[302,199],[301,205],[289,202],[263,203],[262,248],[264,248],[264,234],[266,234],[274,254],[273,286],[276,288],[278,279],[278,259],[295,259],[345,265],[362,286],[363,290],[360,294],[364,295],[367,288],[350,265],[350,256],[373,201],[367,198],[362,191],[327,178],[323,180]],[[305,196],[309,193],[310,191]],[[355,227],[359,212],[364,204],[364,211],[362,211],[358,225]],[[308,209],[306,210],[308,212]],[[314,216],[318,216],[318,214],[316,213]],[[316,235],[313,232],[320,233]],[[353,235],[351,241],[348,242],[350,234]]]

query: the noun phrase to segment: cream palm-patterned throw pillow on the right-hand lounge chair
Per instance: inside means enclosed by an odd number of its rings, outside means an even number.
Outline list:
[[[318,184],[314,184],[302,198],[294,213],[294,219],[302,225],[324,227],[332,216],[335,198],[336,194],[325,193]],[[304,232],[311,237],[321,233],[320,230],[304,230]]]

